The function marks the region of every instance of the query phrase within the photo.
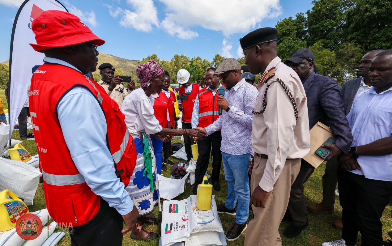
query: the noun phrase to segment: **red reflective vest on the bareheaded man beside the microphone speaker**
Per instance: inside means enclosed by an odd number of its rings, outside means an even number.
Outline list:
[[[215,96],[211,90],[204,87],[199,92],[199,127],[208,127],[219,118],[218,91]]]

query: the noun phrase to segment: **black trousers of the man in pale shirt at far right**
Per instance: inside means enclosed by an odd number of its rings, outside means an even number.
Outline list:
[[[383,245],[383,224],[380,219],[392,195],[392,181],[367,179],[338,167],[339,200],[342,206],[342,238],[347,246],[357,242],[358,231],[362,246]]]

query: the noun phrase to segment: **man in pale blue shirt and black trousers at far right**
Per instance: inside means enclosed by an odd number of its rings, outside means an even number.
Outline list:
[[[383,246],[380,218],[392,195],[392,49],[369,67],[372,88],[359,94],[347,115],[354,140],[338,157],[342,238],[322,246]]]

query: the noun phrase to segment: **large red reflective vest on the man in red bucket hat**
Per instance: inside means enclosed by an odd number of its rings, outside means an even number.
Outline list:
[[[44,177],[46,206],[62,227],[86,224],[100,209],[100,197],[93,193],[76,168],[57,117],[59,101],[75,86],[90,90],[100,104],[107,124],[107,147],[113,156],[113,163],[107,164],[120,170],[117,175],[125,186],[136,165],[136,149],[125,125],[125,116],[105,90],[69,67],[40,66],[31,78],[29,107]]]

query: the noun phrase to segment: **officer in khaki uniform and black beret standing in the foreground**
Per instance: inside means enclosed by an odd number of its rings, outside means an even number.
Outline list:
[[[240,39],[252,74],[262,73],[254,103],[252,147],[254,161],[246,246],[282,245],[278,232],[301,158],[310,150],[305,90],[296,72],[276,52],[275,28],[260,28]]]

